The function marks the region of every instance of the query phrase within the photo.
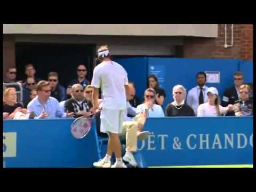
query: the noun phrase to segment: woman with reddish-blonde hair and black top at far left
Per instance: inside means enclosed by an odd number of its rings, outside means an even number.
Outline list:
[[[28,114],[22,103],[17,102],[17,92],[15,88],[5,89],[3,94],[3,118],[4,119],[28,119],[34,114]]]

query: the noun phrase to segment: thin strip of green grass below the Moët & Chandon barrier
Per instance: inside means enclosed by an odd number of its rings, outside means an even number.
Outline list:
[[[191,165],[191,166],[157,166],[149,168],[253,168],[253,165]]]

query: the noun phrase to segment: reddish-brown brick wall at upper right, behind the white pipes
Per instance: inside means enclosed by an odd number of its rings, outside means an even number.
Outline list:
[[[218,38],[185,37],[185,58],[228,58],[253,60],[253,25],[234,24],[234,45],[224,48],[225,25],[218,24]],[[231,25],[227,25],[227,44],[231,44]]]

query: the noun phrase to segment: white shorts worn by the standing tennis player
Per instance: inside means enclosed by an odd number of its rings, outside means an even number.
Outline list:
[[[124,121],[123,110],[102,109],[100,114],[100,132],[121,133]]]

